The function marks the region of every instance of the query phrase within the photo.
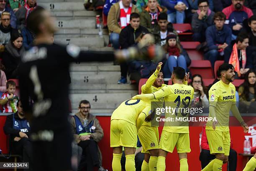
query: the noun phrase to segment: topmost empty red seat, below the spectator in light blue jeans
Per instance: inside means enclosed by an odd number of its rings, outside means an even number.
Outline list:
[[[181,41],[191,41],[192,40],[192,28],[191,28],[190,24],[188,24],[188,23],[173,24],[173,28],[174,28],[174,30],[177,30],[179,39]]]

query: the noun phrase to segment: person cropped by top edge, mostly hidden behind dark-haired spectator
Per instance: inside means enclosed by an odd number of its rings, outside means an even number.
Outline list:
[[[192,16],[197,13],[197,10],[199,9],[198,2],[199,0],[187,0],[187,3],[189,4],[189,10],[186,13],[186,18],[188,19],[189,23],[191,23]],[[212,0],[208,0],[208,8],[213,11],[214,8]]]

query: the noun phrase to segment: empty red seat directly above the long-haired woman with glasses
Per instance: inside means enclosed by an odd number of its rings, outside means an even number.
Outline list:
[[[189,70],[192,75],[200,74],[202,78],[214,78],[209,60],[192,60]]]

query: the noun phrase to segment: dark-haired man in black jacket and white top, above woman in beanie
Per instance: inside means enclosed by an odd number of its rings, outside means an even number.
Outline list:
[[[175,33],[176,35],[178,35],[176,30],[173,29],[172,23],[168,23],[166,13],[159,14],[158,25],[152,30],[152,32],[155,38],[155,43],[161,46],[165,45],[168,33]],[[179,42],[178,37],[177,41]]]

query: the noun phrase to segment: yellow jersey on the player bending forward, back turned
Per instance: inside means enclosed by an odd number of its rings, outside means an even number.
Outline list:
[[[140,99],[123,101],[112,113],[111,121],[122,119],[136,125],[136,120],[141,112],[145,113],[145,117],[151,114],[148,106],[150,107],[150,103]]]

